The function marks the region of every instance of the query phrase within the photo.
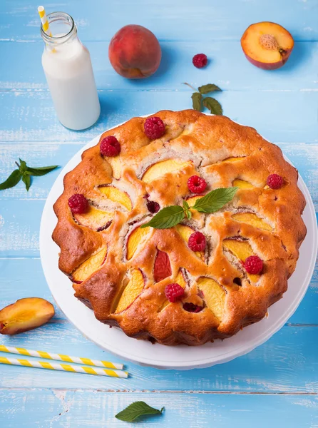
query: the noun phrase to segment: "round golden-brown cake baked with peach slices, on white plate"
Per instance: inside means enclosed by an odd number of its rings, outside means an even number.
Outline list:
[[[60,269],[98,320],[165,345],[202,345],[261,320],[287,290],[306,235],[304,196],[297,170],[255,129],[193,110],[153,116],[165,124],[161,138],[150,140],[146,119],[133,118],[103,133],[66,174],[53,240]],[[106,136],[118,139],[119,156],[101,156]],[[281,188],[268,187],[271,174],[283,178]],[[192,175],[205,179],[204,193],[190,192]],[[210,190],[232,186],[235,197],[215,213],[193,210],[173,228],[140,229],[154,215],[149,201],[192,206]],[[69,208],[76,193],[88,200],[86,213]],[[188,247],[196,231],[205,235],[202,252]],[[250,255],[262,259],[260,275],[245,270]],[[182,299],[167,300],[170,283],[183,287]]]

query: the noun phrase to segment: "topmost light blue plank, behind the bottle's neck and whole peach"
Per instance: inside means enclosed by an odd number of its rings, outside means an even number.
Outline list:
[[[2,0],[0,39],[39,40],[35,0]],[[317,0],[211,1],[200,0],[68,0],[51,3],[47,12],[73,16],[83,40],[110,40],[126,24],[148,27],[160,40],[240,40],[250,24],[274,21],[296,40],[318,40]]]

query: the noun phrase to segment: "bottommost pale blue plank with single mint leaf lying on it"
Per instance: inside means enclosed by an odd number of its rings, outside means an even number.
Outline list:
[[[0,392],[0,419],[7,428],[133,427],[115,414],[131,402],[145,400],[162,415],[138,422],[138,427],[176,428],[314,428],[318,398],[303,395],[143,394],[64,392],[61,390]]]

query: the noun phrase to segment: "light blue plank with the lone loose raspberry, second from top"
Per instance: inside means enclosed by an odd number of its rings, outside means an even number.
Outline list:
[[[0,43],[0,88],[47,89],[41,66],[44,44]],[[163,58],[158,72],[138,81],[123,78],[113,70],[108,61],[108,42],[88,42],[91,52],[96,85],[99,89],[188,91],[188,82],[195,87],[202,83],[216,83],[223,91],[297,91],[317,88],[318,44],[298,42],[287,64],[275,71],[265,71],[252,66],[242,51],[239,41],[178,41],[161,42]],[[198,70],[192,64],[195,53],[204,51],[210,58],[209,65]],[[23,67],[12,67],[15,58]],[[272,93],[279,96],[279,93]]]

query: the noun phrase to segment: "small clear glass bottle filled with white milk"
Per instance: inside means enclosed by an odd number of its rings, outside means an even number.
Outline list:
[[[71,16],[53,12],[47,19],[51,36],[41,26],[42,66],[58,120],[75,131],[86,129],[101,113],[91,56],[78,39]]]

